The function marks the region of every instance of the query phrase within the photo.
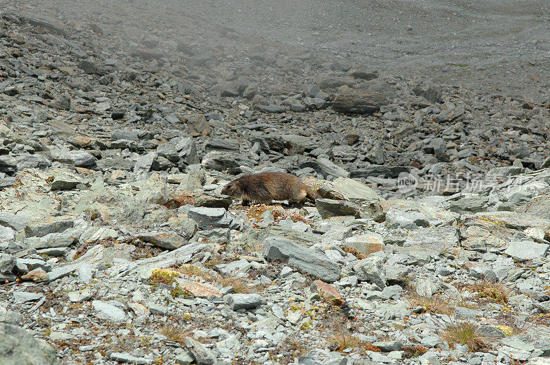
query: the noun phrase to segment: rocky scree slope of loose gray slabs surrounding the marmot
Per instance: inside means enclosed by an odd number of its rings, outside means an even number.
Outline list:
[[[544,104],[0,19],[6,363],[546,361]],[[220,195],[260,170],[323,198]]]

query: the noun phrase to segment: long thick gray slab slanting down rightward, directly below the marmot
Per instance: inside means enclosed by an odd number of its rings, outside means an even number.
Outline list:
[[[263,254],[268,260],[280,259],[288,265],[296,265],[308,274],[329,283],[340,279],[340,266],[327,255],[281,237],[270,236],[264,239]]]

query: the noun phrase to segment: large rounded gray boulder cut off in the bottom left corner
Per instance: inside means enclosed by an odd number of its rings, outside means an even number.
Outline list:
[[[0,338],[3,365],[59,364],[52,346],[17,326],[0,323]]]

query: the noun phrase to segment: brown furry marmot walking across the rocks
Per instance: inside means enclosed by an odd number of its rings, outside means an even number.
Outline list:
[[[241,198],[242,205],[251,201],[269,204],[272,200],[288,200],[289,203],[303,202],[306,198],[313,201],[320,198],[305,185],[299,177],[287,173],[248,174],[234,179],[221,189],[223,195]]]

